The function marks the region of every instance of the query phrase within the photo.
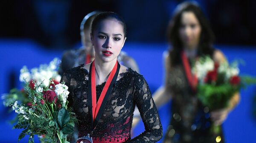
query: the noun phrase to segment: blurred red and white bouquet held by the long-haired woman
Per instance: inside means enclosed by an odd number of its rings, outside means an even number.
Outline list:
[[[238,62],[214,62],[209,56],[201,57],[192,69],[198,78],[197,96],[210,110],[223,109],[242,87]]]

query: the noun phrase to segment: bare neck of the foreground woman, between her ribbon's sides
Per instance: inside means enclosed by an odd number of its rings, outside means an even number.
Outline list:
[[[109,74],[116,64],[116,59],[113,59],[111,62],[102,62],[102,60],[96,58],[94,64],[96,70],[96,85],[98,85],[107,81]]]

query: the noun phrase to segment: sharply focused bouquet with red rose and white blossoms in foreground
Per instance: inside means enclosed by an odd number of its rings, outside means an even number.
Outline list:
[[[24,79],[25,80],[25,79]],[[27,104],[18,104],[15,101],[12,109],[18,114],[15,129],[24,129],[18,140],[29,135],[29,143],[34,143],[34,135],[44,135],[41,141],[47,143],[68,143],[67,135],[73,133],[75,114],[67,107],[68,87],[64,84],[54,84],[52,79],[47,80],[55,86],[49,89],[48,84],[32,81],[25,83],[24,90],[28,94]]]

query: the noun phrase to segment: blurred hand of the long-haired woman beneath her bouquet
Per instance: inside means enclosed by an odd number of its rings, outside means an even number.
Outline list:
[[[221,125],[227,119],[227,115],[229,112],[230,112],[230,109],[228,108],[212,111],[210,113],[211,119],[216,126]]]

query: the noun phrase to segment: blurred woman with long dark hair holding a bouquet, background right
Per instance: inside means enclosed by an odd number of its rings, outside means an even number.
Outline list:
[[[212,47],[213,32],[198,4],[189,1],[178,5],[167,34],[172,48],[163,53],[165,84],[153,95],[157,107],[172,99],[172,119],[163,143],[223,143],[222,129],[215,135],[210,131],[212,125],[209,123],[221,125],[240,96],[235,94],[229,107],[209,113],[192,90],[180,56],[186,56],[190,67],[192,61],[203,55],[211,56],[215,62],[227,62],[224,54]]]

